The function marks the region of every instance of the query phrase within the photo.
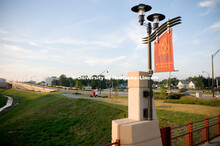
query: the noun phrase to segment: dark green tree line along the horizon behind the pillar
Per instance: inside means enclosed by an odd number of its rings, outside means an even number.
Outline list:
[[[220,77],[216,77],[218,82],[220,81]],[[179,83],[179,79],[177,78],[168,78],[164,79],[160,82],[153,81],[153,84],[168,84],[169,87],[176,87]],[[194,82],[196,88],[198,89],[211,89],[212,87],[212,79],[205,78],[202,75],[198,77],[188,77],[185,81]],[[107,89],[114,88],[119,89],[122,88],[121,84],[127,84],[127,80],[123,79],[106,79],[104,75],[92,75],[91,78],[88,75],[82,75],[78,78],[67,77],[62,74],[57,80],[52,81],[53,86],[65,86],[65,87],[75,87],[78,89],[84,89],[85,87],[91,87],[92,89]],[[216,84],[215,84],[216,86]]]

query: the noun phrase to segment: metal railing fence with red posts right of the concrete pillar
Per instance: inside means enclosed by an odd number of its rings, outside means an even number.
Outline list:
[[[161,128],[164,146],[196,146],[220,136],[220,115],[188,124]]]

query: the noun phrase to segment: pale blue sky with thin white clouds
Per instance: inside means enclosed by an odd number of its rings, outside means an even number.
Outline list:
[[[0,0],[0,78],[126,77],[147,71],[146,28],[131,11],[139,3],[152,7],[146,17],[164,14],[160,24],[182,17],[173,27],[178,72],[171,77],[211,77],[211,55],[220,49],[220,0]],[[220,76],[220,53],[214,75]],[[168,72],[154,73],[158,80],[168,77]]]

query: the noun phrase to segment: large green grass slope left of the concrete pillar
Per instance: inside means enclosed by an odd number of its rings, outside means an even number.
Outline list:
[[[103,145],[111,142],[111,121],[126,108],[103,102],[1,90],[19,106],[0,116],[0,145]]]

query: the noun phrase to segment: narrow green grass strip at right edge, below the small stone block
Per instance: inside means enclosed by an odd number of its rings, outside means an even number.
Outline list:
[[[200,98],[193,98],[193,97],[182,97],[179,100],[166,100],[166,103],[178,103],[178,104],[197,104],[197,105],[208,105],[208,106],[219,106],[220,107],[220,100],[219,99],[200,99]]]

